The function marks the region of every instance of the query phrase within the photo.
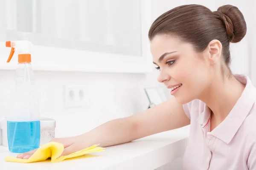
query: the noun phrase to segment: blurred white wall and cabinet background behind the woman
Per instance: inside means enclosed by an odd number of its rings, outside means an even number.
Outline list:
[[[14,93],[17,54],[6,63],[5,41],[30,40],[41,117],[55,119],[56,136],[84,133],[148,108],[144,88],[161,88],[149,51],[148,29],[184,4],[212,11],[237,6],[247,35],[231,45],[231,69],[256,85],[256,2],[253,0],[0,0],[0,119]],[[70,89],[78,99],[71,101]]]

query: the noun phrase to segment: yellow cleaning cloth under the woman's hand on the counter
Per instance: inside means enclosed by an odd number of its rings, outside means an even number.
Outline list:
[[[12,156],[6,156],[5,160],[9,162],[31,163],[31,162],[45,161],[48,158],[51,158],[51,162],[60,162],[60,161],[63,161],[64,159],[84,156],[87,153],[99,152],[105,149],[103,147],[97,147],[98,145],[99,144],[95,144],[84,150],[71,153],[70,155],[67,155],[67,156],[59,157],[64,150],[63,144],[57,143],[57,142],[49,142],[39,147],[38,150],[36,150],[35,153],[29,159],[20,159]]]

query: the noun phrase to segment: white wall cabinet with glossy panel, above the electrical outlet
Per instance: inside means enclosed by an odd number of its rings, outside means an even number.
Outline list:
[[[30,40],[35,70],[151,71],[150,26],[148,0],[0,0],[0,69],[5,41]]]

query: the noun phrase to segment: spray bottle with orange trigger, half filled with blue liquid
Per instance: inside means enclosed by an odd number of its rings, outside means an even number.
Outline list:
[[[33,45],[29,41],[8,41],[6,47],[12,48],[7,62],[15,52],[18,54],[15,93],[7,116],[8,146],[12,153],[24,153],[40,145],[38,96],[31,65]]]

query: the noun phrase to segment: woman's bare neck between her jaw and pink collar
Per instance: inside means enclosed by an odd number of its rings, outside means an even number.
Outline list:
[[[217,126],[230,113],[244,91],[245,85],[239,82],[233,75],[229,78],[218,77],[201,97],[212,110],[212,120]]]

